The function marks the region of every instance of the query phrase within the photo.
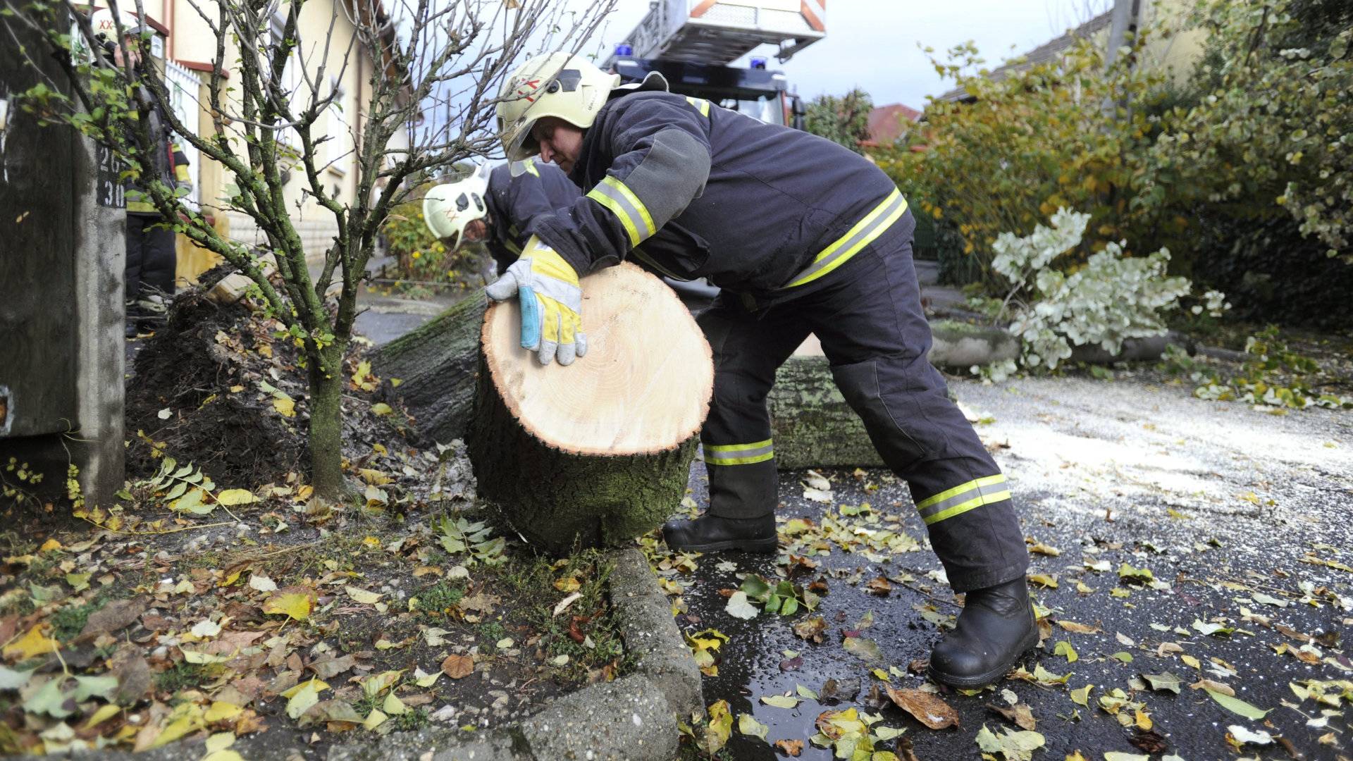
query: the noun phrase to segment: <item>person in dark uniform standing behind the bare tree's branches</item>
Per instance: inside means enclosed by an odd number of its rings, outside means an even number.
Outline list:
[[[99,42],[112,53],[114,65],[122,68],[129,62],[139,77],[143,66],[141,35],[153,31],[142,24],[135,15],[120,12],[116,22],[111,9],[95,11],[89,18]],[[118,26],[122,26],[122,42],[118,43]],[[169,188],[185,195],[192,188],[188,173],[188,157],[169,131],[169,121],[164,118],[154,97],[143,87],[133,91],[139,107],[149,116],[152,152],[143,157],[142,177],[129,177],[127,199],[127,260],[124,267],[124,295],[127,299],[127,336],[135,336],[138,329],[153,329],[157,314],[165,310],[164,298],[173,295],[175,269],[179,257],[175,249],[175,233],[166,226],[145,192],[145,183],[160,180]]]

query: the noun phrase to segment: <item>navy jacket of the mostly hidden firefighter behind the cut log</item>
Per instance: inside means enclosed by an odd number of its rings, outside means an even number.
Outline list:
[[[511,176],[511,165],[502,164],[488,173],[488,218],[492,233],[484,245],[498,263],[502,275],[517,261],[530,237],[526,227],[541,214],[567,209],[582,198],[582,191],[553,164],[528,158],[518,162],[518,176]]]

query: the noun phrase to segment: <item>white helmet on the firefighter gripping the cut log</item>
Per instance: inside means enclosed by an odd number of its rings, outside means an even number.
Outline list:
[[[607,74],[580,56],[551,53],[522,64],[505,81],[498,103],[498,131],[510,161],[540,153],[530,127],[556,116],[579,129],[591,126],[620,74]]]

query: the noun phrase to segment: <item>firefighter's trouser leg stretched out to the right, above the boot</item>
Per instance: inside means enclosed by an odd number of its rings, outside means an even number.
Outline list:
[[[1024,536],[996,462],[925,360],[909,237],[879,240],[869,267],[808,299],[832,376],[884,462],[907,479],[931,546],[957,592],[1019,578]],[[798,309],[804,309],[800,305]]]

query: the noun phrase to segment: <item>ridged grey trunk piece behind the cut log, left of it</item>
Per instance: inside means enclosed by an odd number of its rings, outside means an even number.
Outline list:
[[[476,291],[382,347],[372,362],[376,375],[399,380],[395,393],[418,432],[436,441],[461,439],[469,427],[486,309],[487,297]]]

